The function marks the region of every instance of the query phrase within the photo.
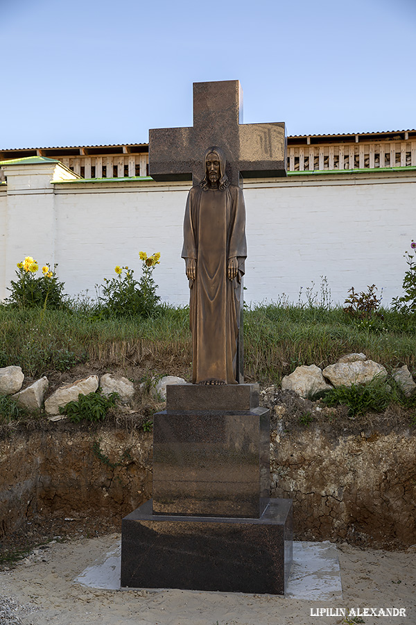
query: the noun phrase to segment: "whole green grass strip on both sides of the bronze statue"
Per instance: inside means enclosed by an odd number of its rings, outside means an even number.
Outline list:
[[[154,319],[97,319],[85,311],[18,310],[0,306],[0,367],[20,365],[29,376],[76,363],[139,365],[189,378],[187,308],[166,307]],[[416,315],[381,310],[356,319],[342,308],[257,306],[244,311],[248,381],[280,383],[298,365],[326,367],[363,351],[388,370],[416,370]]]

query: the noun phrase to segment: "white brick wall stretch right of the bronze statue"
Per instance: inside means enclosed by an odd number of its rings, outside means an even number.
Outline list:
[[[247,299],[285,292],[296,301],[301,286],[315,281],[319,290],[327,276],[334,301],[375,283],[390,302],[401,292],[404,250],[416,238],[415,183],[340,174],[247,188]]]

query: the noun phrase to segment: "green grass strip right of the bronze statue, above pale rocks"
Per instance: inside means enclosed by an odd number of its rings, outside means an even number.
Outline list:
[[[363,351],[390,369],[415,367],[415,319],[382,311],[374,325],[342,308],[259,306],[245,313],[245,369],[261,381],[281,381],[298,365],[326,367]]]

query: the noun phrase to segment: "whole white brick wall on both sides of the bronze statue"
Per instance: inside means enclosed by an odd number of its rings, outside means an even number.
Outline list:
[[[51,187],[53,194],[48,193]],[[49,197],[45,194],[43,199],[30,190],[8,197],[9,217],[10,211],[19,210],[26,219],[19,234],[10,231],[9,238],[17,241],[8,241],[6,267],[0,247],[0,275],[6,274],[0,297],[15,269],[10,267],[12,260],[17,263],[23,252],[42,264],[53,262],[55,253],[67,292],[88,289],[94,295],[94,285],[114,276],[117,264],[132,267],[139,277],[138,253],[144,250],[162,254],[154,274],[162,299],[187,303],[180,258],[187,185],[118,181],[46,188]],[[384,288],[384,303],[390,302],[401,292],[404,250],[416,238],[415,192],[412,172],[291,176],[245,183],[245,300],[271,301],[284,292],[297,301],[300,287],[305,290],[315,281],[319,290],[320,276],[327,276],[333,301],[343,303],[353,285],[363,290],[376,283]],[[0,226],[4,204],[0,192]],[[16,258],[11,258],[11,249],[16,249]]]

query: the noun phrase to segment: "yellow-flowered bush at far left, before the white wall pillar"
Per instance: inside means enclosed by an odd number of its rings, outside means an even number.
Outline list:
[[[56,267],[44,265],[39,272],[39,265],[32,256],[26,256],[17,263],[17,280],[10,281],[10,297],[5,299],[6,306],[17,308],[62,308],[64,306],[64,283],[58,281]]]

